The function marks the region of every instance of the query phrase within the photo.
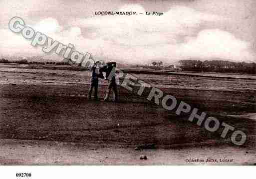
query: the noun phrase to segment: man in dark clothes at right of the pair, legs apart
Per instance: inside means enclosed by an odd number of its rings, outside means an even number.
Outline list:
[[[116,68],[116,62],[107,62],[107,65],[105,65],[102,68],[102,70],[104,72],[106,72],[106,79],[108,80],[108,87],[107,87],[107,91],[106,91],[104,101],[108,101],[112,88],[113,88],[113,91],[114,91],[113,99],[114,99],[115,102],[118,100],[116,78],[115,78],[115,75],[110,75],[112,70],[115,70],[115,68]],[[111,79],[109,79],[110,76],[112,76]]]

